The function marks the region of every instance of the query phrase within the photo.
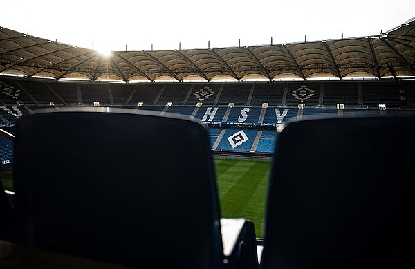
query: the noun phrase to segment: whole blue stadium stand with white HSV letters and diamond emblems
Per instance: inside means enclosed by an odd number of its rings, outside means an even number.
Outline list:
[[[232,126],[265,131],[286,120],[308,115],[337,114],[342,117],[415,113],[411,107],[415,96],[410,90],[414,83],[410,80],[120,84],[1,77],[0,82],[0,100],[12,103],[0,106],[3,127],[13,126],[21,115],[46,106],[59,109],[63,106],[93,106],[94,102],[106,107],[191,116],[210,128],[221,127],[223,132]],[[172,104],[167,106],[167,103]],[[229,106],[229,103],[234,105]],[[267,105],[259,107],[264,103]],[[299,109],[300,104],[303,109]],[[340,104],[342,109],[337,107]],[[380,104],[387,110],[380,111]],[[217,140],[218,137],[210,136],[212,149],[225,153],[232,148],[225,140]],[[216,140],[221,143],[214,145]],[[273,144],[275,138],[262,138],[259,134],[250,149],[246,146],[240,149],[250,154],[272,155],[270,147]]]

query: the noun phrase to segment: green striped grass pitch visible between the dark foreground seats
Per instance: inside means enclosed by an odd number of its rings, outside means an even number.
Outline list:
[[[222,216],[243,217],[255,224],[257,237],[264,237],[262,222],[270,161],[215,158]],[[5,189],[13,190],[12,171],[0,174]]]

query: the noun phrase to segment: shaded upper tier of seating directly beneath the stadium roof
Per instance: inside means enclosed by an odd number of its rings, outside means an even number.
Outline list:
[[[339,81],[339,82],[209,82],[209,83],[109,83],[109,82],[55,82],[21,77],[0,77],[0,104],[43,105],[53,102],[62,105],[136,106],[269,106],[388,109],[415,107],[412,93],[414,82],[403,80]]]

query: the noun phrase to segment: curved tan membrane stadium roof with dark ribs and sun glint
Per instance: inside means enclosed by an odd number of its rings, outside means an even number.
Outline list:
[[[415,76],[415,17],[369,37],[107,56],[0,27],[0,73],[122,82]]]

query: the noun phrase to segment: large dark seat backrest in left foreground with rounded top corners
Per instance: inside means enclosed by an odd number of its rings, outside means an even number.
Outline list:
[[[208,132],[151,112],[60,109],[16,125],[19,243],[142,268],[218,268]]]

